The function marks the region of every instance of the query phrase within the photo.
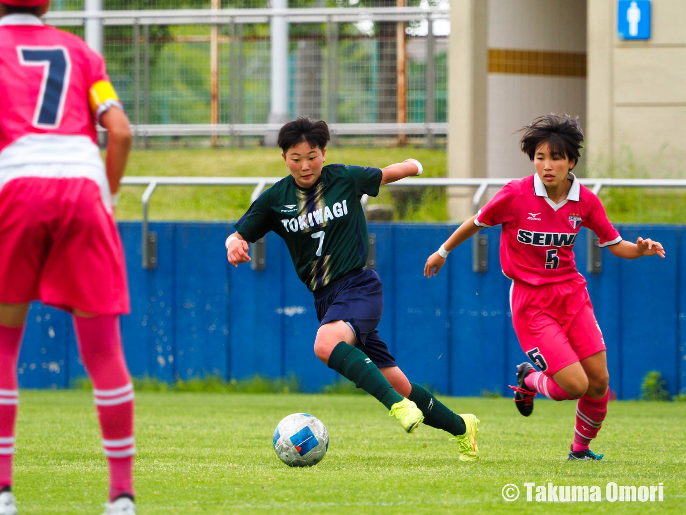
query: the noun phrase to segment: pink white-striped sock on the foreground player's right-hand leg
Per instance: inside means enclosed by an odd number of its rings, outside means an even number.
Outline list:
[[[110,501],[134,495],[133,385],[121,347],[119,317],[74,317],[81,358],[93,381],[102,446],[110,468]]]

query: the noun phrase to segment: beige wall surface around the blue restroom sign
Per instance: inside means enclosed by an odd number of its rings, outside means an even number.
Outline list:
[[[617,37],[617,2],[588,12],[589,173],[686,172],[686,1],[652,0],[648,41]]]

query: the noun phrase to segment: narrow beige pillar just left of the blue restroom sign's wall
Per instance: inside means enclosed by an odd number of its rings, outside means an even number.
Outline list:
[[[613,160],[615,1],[587,2],[586,141],[589,175]]]

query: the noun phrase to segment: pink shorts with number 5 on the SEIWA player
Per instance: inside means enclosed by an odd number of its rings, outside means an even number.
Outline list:
[[[519,345],[546,376],[606,350],[582,275],[543,286],[512,282],[510,308]]]

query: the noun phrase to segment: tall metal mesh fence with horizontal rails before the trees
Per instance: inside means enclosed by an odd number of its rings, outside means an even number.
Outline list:
[[[105,1],[106,9],[146,10],[70,10],[78,3],[54,3],[62,10],[49,12],[47,22],[84,36],[86,19],[101,21],[108,73],[132,122],[145,126],[147,136],[165,133],[165,145],[174,144],[174,136],[190,135],[180,129],[169,137],[169,130],[158,126],[193,124],[193,134],[212,135],[213,144],[222,145],[242,143],[241,135],[251,139],[250,131],[225,129],[233,137],[224,137],[212,125],[268,122],[269,23],[277,15],[289,21],[283,87],[290,117],[342,124],[338,135],[429,134],[429,145],[433,135],[447,131],[447,36],[434,30],[436,21],[447,23],[445,6],[169,10],[184,2]],[[185,4],[209,7],[209,1]],[[152,9],[161,6],[166,9]],[[366,124],[383,125],[365,130]],[[405,134],[390,124],[414,124],[414,129]]]

